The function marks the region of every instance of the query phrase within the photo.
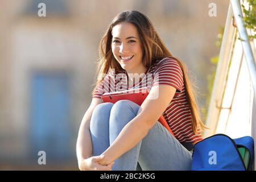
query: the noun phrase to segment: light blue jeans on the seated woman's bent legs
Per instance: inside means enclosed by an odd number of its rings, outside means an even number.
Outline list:
[[[129,100],[115,104],[106,102],[95,107],[90,121],[92,156],[101,155],[114,142],[139,108]],[[157,121],[146,137],[115,160],[112,170],[191,170],[191,162],[191,152]]]

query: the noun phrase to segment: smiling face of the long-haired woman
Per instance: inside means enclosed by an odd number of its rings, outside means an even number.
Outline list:
[[[137,28],[131,23],[119,23],[112,29],[112,52],[127,73],[144,73],[142,44]]]

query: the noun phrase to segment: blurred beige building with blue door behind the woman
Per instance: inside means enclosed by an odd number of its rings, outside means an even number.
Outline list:
[[[39,3],[46,17],[39,17]],[[217,16],[208,15],[216,3]],[[196,77],[202,95],[229,1],[2,0],[0,169],[78,169],[75,145],[96,81],[97,49],[115,15],[138,10]],[[38,164],[46,151],[47,165]]]

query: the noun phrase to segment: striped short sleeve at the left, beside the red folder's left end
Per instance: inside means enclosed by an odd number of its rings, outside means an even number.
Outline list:
[[[114,84],[114,72],[110,72],[94,90],[92,98],[101,98],[102,94],[112,92]]]

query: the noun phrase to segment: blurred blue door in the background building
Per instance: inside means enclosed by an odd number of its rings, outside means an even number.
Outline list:
[[[71,156],[69,78],[65,73],[34,73],[31,79],[31,155],[45,151],[48,162]],[[37,161],[36,161],[37,162]]]

